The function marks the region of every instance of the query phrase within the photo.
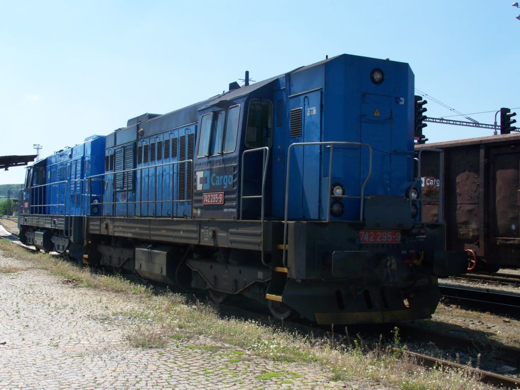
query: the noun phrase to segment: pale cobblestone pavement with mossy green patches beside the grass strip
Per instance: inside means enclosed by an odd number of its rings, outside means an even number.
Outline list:
[[[23,266],[0,253],[0,267]],[[322,369],[280,363],[212,340],[134,348],[117,310],[124,294],[77,287],[48,272],[0,273],[0,389],[372,389]],[[383,388],[383,387],[381,387]]]

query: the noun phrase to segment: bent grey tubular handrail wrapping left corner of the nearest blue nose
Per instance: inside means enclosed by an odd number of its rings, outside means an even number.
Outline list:
[[[294,144],[289,145],[289,148],[287,150],[287,175],[285,175],[285,204],[284,204],[284,224],[283,224],[283,245],[282,245],[282,251],[283,251],[283,257],[282,262],[283,266],[287,267],[287,232],[288,232],[288,219],[289,219],[289,184],[290,184],[290,172],[291,172],[291,149],[295,146],[330,146],[330,157],[329,157],[329,191],[327,196],[327,210],[330,208],[330,186],[331,184],[331,177],[332,177],[332,157],[334,153],[334,145],[341,145],[341,146],[359,146],[359,147],[367,147],[369,150],[369,168],[368,168],[368,174],[363,181],[363,185],[361,186],[361,193],[360,193],[360,206],[359,206],[359,220],[363,220],[363,203],[365,201],[365,187],[368,183],[368,179],[370,176],[372,176],[372,147],[369,144],[364,144],[363,142],[347,142],[347,141],[324,141],[324,142],[295,142]],[[342,196],[342,198],[358,198],[353,196]],[[325,222],[330,222],[330,216],[329,213],[327,213],[327,219]]]

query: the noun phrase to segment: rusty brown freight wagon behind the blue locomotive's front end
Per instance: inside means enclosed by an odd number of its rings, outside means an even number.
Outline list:
[[[415,146],[424,148],[444,150],[444,177],[437,153],[425,149],[421,181],[423,199],[444,189],[446,249],[464,249],[469,270],[520,267],[520,134]],[[425,201],[424,220],[437,220],[438,210],[438,202]]]

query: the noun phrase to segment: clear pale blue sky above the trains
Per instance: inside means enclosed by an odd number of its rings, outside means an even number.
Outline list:
[[[512,2],[0,0],[0,155],[33,144],[48,155],[221,93],[245,70],[260,81],[342,53],[408,62],[417,88],[463,113],[520,107]],[[434,124],[425,133],[491,135]],[[1,171],[0,184],[24,171]]]

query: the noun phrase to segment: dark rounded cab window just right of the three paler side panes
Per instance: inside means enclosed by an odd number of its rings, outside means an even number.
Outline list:
[[[245,146],[249,148],[270,147],[271,140],[272,104],[269,100],[252,99],[249,102]]]

